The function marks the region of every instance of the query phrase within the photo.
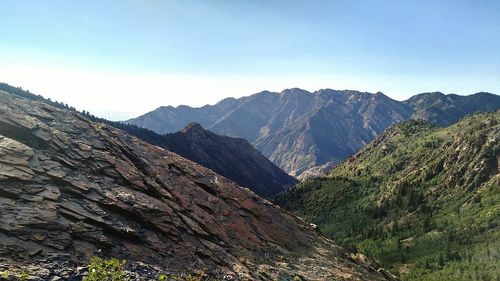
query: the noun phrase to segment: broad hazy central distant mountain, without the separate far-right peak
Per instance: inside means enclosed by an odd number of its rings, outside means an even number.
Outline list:
[[[216,110],[222,108],[221,103],[224,110]],[[316,165],[350,156],[387,126],[412,114],[407,106],[382,93],[328,89],[315,93],[301,89],[265,91],[221,103],[189,110],[185,106],[162,107],[127,122],[169,132],[177,127],[160,116],[183,120],[189,111],[189,117],[199,118],[190,121],[219,134],[247,139],[273,163],[298,176]],[[208,109],[222,114],[204,119],[203,112]]]

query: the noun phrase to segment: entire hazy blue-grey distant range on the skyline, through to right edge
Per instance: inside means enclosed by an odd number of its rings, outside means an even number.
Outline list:
[[[449,125],[467,114],[500,108],[500,96],[423,93],[396,101],[378,92],[260,92],[215,105],[159,107],[126,123],[171,133],[198,122],[218,134],[245,138],[292,176],[327,171],[371,142],[384,129],[408,119]]]

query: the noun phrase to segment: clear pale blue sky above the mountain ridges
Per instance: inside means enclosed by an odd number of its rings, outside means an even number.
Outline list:
[[[0,82],[111,120],[293,87],[500,94],[500,1],[2,0]]]

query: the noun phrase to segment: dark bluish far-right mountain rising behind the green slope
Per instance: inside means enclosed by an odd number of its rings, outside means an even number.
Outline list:
[[[449,126],[467,114],[500,108],[500,96],[483,92],[470,96],[433,92],[413,96],[403,103],[414,110],[412,118]]]

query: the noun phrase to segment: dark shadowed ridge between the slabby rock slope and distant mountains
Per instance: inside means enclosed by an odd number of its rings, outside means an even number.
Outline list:
[[[8,84],[0,83],[0,90],[76,112],[68,105],[44,99]],[[177,133],[159,135],[134,125],[97,118],[86,112],[82,114],[92,121],[106,123],[150,144],[175,152],[264,197],[276,195],[297,182],[244,139],[217,135],[194,123]]]

